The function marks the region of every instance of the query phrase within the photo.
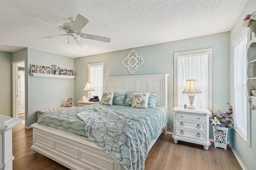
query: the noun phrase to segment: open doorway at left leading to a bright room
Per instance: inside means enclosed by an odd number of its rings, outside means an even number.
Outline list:
[[[22,124],[25,125],[25,106],[26,106],[26,98],[25,98],[25,61],[19,60],[12,62],[12,117],[22,119]]]

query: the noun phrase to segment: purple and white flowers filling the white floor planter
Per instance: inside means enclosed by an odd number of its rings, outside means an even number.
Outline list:
[[[210,123],[212,123],[213,126],[217,127],[227,127],[230,129],[234,129],[234,121],[233,121],[233,109],[230,103],[228,103],[229,109],[227,112],[218,110],[217,112],[213,112],[212,116],[209,117]]]

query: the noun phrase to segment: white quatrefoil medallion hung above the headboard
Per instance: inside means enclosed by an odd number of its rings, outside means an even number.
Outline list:
[[[144,63],[144,59],[132,49],[128,55],[123,59],[122,64],[133,75],[137,69]]]

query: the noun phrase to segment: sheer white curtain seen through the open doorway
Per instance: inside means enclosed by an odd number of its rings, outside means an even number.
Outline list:
[[[18,114],[25,113],[25,71],[18,71]]]

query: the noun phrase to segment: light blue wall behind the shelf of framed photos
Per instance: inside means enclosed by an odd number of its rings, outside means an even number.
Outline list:
[[[74,70],[74,59],[28,48],[28,126],[36,122],[36,111],[61,107],[68,98],[74,99],[74,79],[33,77],[29,73],[31,64],[56,64]]]

